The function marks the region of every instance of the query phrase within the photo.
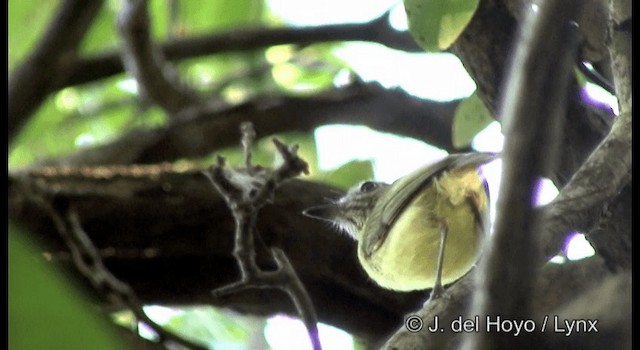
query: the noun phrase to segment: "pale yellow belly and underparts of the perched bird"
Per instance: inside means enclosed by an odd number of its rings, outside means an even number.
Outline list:
[[[358,258],[369,276],[385,288],[432,288],[444,224],[448,234],[442,283],[454,282],[478,259],[486,229],[482,217],[487,211],[488,197],[475,167],[444,172],[400,213],[380,248],[365,259],[359,246]]]

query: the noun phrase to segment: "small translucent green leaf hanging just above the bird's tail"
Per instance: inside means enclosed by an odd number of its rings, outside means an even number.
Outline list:
[[[451,139],[455,148],[464,148],[494,120],[476,93],[462,100],[453,116]]]

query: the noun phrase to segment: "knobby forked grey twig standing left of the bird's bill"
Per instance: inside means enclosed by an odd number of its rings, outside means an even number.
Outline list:
[[[241,273],[239,281],[217,288],[212,294],[221,297],[250,288],[276,288],[286,292],[307,327],[313,349],[321,349],[313,303],[284,251],[272,248],[271,256],[277,268],[263,271],[256,264],[254,244],[258,234],[258,211],[272,200],[276,187],[283,181],[307,173],[307,163],[297,156],[297,146],[288,147],[274,139],[283,164],[274,170],[254,166],[251,164],[251,148],[255,141],[253,125],[243,123],[241,132],[246,168],[224,169],[224,159],[218,157],[217,165],[203,172],[225,199],[235,219],[233,254]]]

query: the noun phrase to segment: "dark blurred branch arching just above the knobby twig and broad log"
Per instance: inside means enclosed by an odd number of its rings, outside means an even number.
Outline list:
[[[204,156],[235,144],[227,130],[236,130],[241,120],[251,121],[263,135],[310,131],[331,123],[362,124],[453,152],[451,125],[458,102],[422,100],[377,84],[356,84],[314,97],[258,98],[239,106],[184,113],[183,121],[165,128],[133,131],[111,144],[41,164],[157,163]]]

